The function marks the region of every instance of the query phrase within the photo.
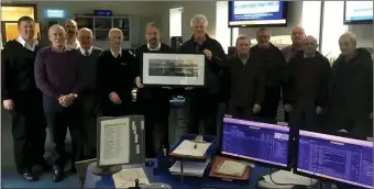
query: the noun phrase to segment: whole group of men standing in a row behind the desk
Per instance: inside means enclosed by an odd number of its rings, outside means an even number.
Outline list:
[[[301,27],[293,30],[293,45],[282,51],[270,43],[267,29],[258,30],[253,47],[250,37],[241,35],[237,53],[227,57],[220,43],[206,33],[208,21],[202,14],[191,19],[193,36],[178,51],[161,42],[154,23],[145,27],[147,43],[135,52],[121,47],[119,29],[110,30],[110,48],[102,51],[92,46],[92,31],[78,30],[74,20],[52,25],[51,45],[43,48],[33,38],[31,18],[21,18],[18,25],[20,36],[2,52],[2,100],[12,112],[15,164],[26,180],[37,180],[34,166],[48,169],[43,157],[46,127],[57,154],[52,163],[54,181],[64,179],[67,129],[72,162],[96,157],[98,116],[143,114],[146,156],[154,157],[156,148],[168,148],[173,94],[186,97],[188,133],[193,134],[200,133],[204,122],[205,133],[217,135],[220,104],[233,116],[274,122],[280,99],[290,126],[339,131],[358,138],[364,138],[370,129],[373,60],[369,52],[356,48],[351,33],[340,37],[342,54],[331,69],[317,51],[317,40],[306,36]],[[144,53],[204,54],[206,87],[144,87],[140,77]],[[133,88],[138,88],[135,103]],[[320,124],[320,118],[327,118],[328,124]]]

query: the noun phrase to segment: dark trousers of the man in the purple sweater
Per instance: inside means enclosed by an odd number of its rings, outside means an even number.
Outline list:
[[[84,135],[81,105],[76,102],[69,108],[59,111],[47,111],[45,116],[48,129],[55,143],[57,157],[53,160],[54,169],[63,169],[67,155],[65,151],[66,131],[69,129],[73,144],[72,163],[84,159]]]

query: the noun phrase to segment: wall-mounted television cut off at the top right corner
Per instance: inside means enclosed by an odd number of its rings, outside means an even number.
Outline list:
[[[373,1],[344,1],[344,24],[373,23]]]

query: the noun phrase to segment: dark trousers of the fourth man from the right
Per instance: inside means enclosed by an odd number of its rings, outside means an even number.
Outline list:
[[[268,121],[276,120],[280,100],[280,87],[266,87],[264,102],[258,115]]]

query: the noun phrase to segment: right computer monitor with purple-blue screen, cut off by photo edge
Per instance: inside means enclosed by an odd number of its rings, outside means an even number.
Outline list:
[[[296,174],[373,188],[373,142],[299,131],[298,144]]]

